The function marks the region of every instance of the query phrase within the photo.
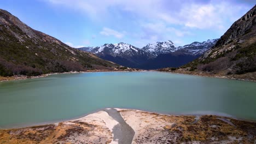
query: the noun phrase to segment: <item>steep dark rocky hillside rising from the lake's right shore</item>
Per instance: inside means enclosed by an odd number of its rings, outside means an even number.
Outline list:
[[[234,22],[212,49],[175,71],[256,80],[256,5]]]

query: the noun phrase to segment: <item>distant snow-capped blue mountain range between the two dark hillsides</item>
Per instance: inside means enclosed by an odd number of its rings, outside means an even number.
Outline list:
[[[104,44],[96,47],[81,47],[79,50],[94,53],[96,56],[120,65],[140,69],[179,67],[200,57],[218,39],[194,42],[176,46],[171,40],[148,44],[142,48],[130,44]]]

